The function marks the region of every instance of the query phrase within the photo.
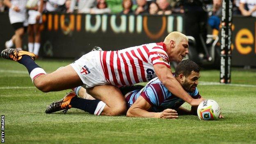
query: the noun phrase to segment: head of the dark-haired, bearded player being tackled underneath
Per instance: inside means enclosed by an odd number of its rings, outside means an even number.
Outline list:
[[[200,67],[192,60],[185,59],[176,67],[175,78],[187,92],[194,92],[200,78]]]

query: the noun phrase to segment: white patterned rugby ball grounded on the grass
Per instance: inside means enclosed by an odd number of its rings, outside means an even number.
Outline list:
[[[213,100],[202,101],[197,107],[197,116],[200,120],[216,120],[219,114],[219,104]]]

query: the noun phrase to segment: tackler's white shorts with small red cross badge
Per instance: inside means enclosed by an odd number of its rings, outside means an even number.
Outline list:
[[[84,83],[84,88],[108,84],[100,61],[100,51],[92,51],[71,64]]]

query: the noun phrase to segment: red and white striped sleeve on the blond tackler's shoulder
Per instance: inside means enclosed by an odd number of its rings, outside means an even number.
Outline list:
[[[163,64],[170,68],[169,57],[165,50],[160,46],[155,46],[149,51],[149,60],[153,65],[155,64]]]

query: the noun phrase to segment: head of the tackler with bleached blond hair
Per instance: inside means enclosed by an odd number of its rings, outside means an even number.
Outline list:
[[[171,32],[165,37],[167,53],[170,61],[181,62],[188,53],[188,39],[181,32]]]

